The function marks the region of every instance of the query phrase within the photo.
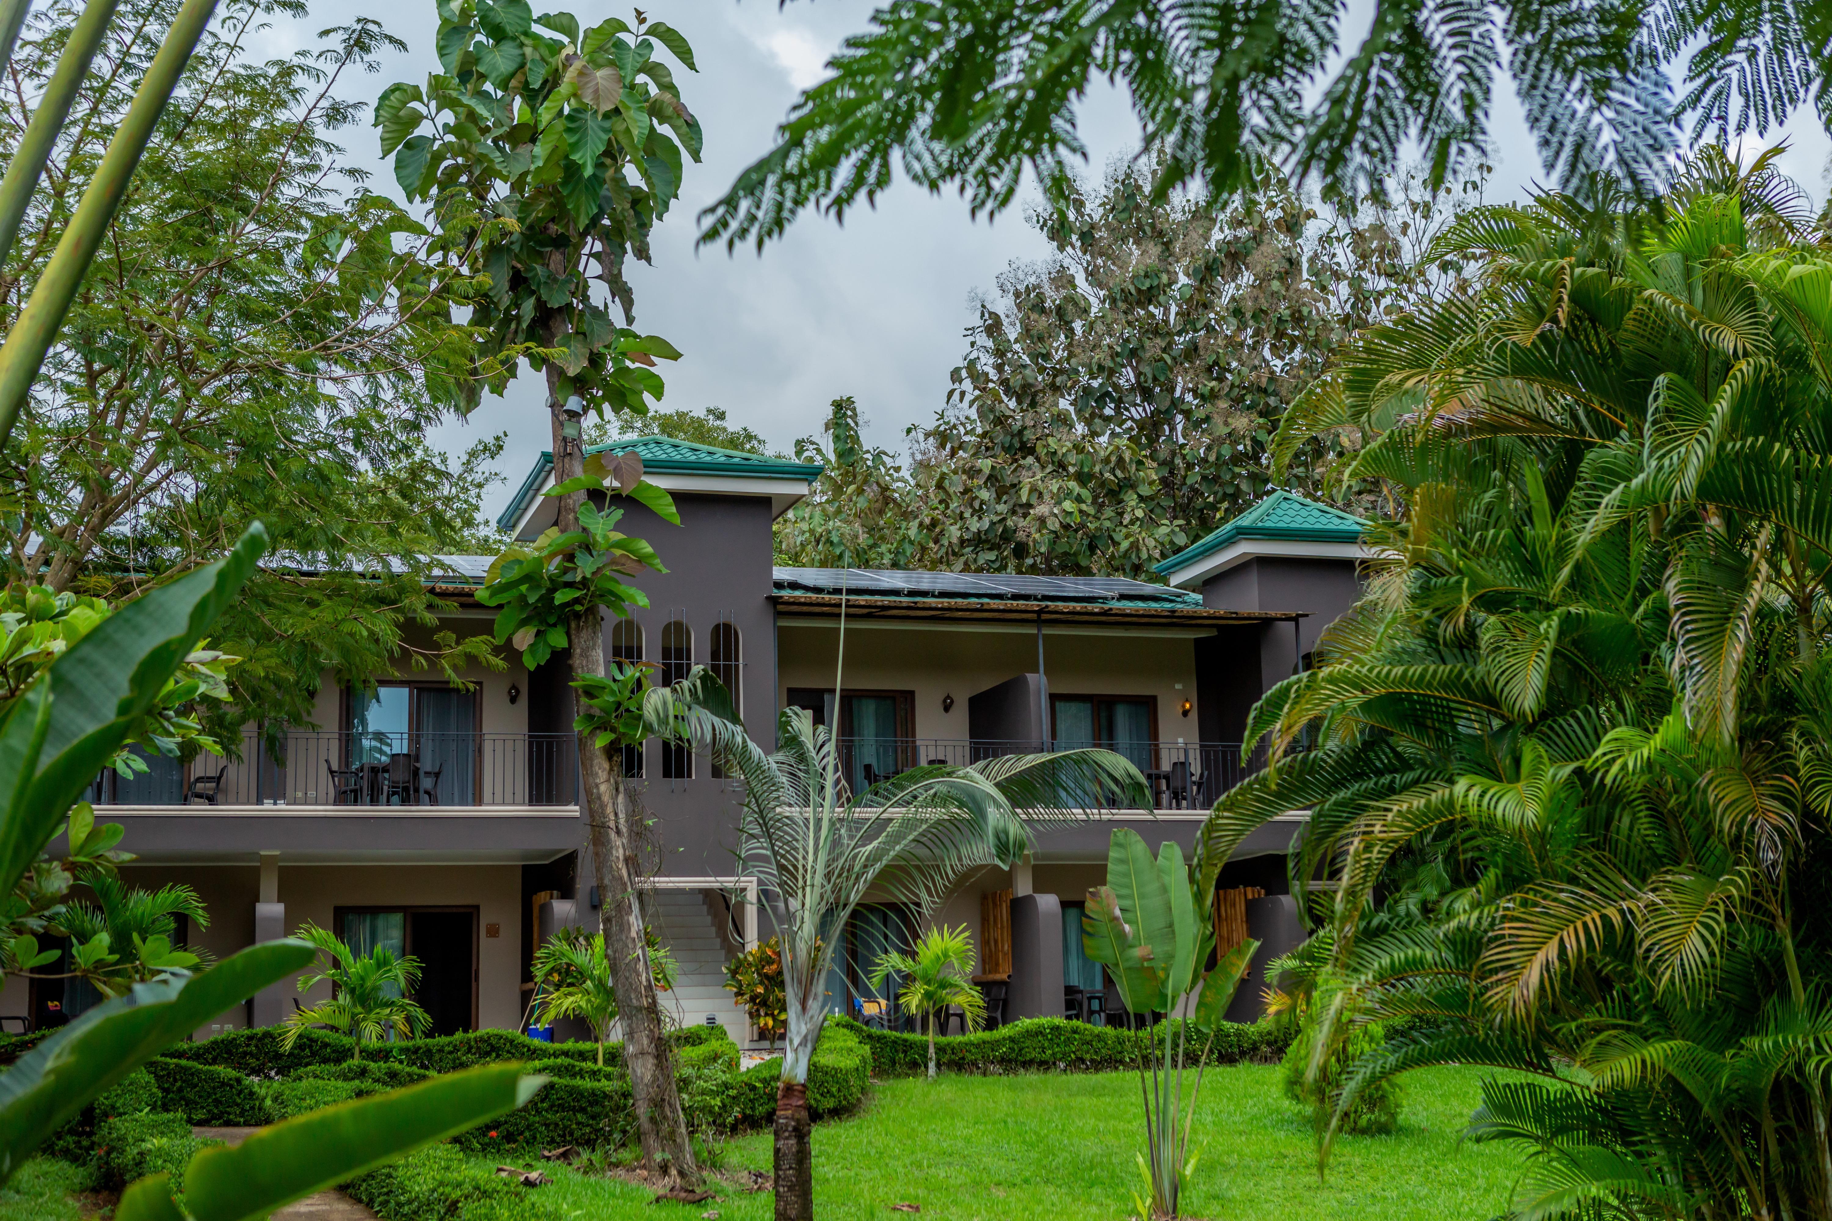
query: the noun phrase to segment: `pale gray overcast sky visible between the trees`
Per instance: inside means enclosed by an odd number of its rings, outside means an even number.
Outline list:
[[[584,24],[627,16],[621,5],[559,7],[579,13]],[[769,148],[797,92],[821,77],[843,37],[865,26],[870,5],[823,0],[779,9],[771,0],[656,0],[645,11],[692,42],[700,71],[678,71],[676,81],[705,130],[705,159],[687,167],[682,200],[656,231],[654,265],[628,269],[636,326],[667,337],[683,353],[680,364],[663,370],[665,406],[724,406],[733,423],[788,448],[795,438],[821,430],[830,399],[850,394],[868,439],[901,450],[903,428],[931,419],[945,401],[949,370],[964,353],[962,331],[975,317],[973,295],[991,291],[1011,262],[1042,258],[1044,242],[1024,223],[1022,209],[995,223],[975,222],[954,194],[900,185],[876,211],[854,212],[845,227],[804,216],[760,256],[751,247],[736,254],[724,247],[696,251],[698,211]],[[262,51],[315,46],[319,29],[359,13],[381,16],[410,49],[387,57],[374,77],[346,79],[348,97],[372,101],[385,84],[423,82],[438,68],[432,0],[379,9],[361,0],[315,0],[306,20],[275,24]],[[1541,167],[1511,97],[1499,106],[1495,128],[1497,172],[1488,198],[1519,198]],[[1125,99],[1110,90],[1085,108],[1081,134],[1096,176],[1108,157],[1130,154],[1138,143]],[[1795,115],[1786,135],[1794,145],[1786,172],[1823,200],[1832,141],[1810,112]],[[374,167],[374,189],[399,198],[374,128],[346,130],[341,143],[352,161]],[[469,421],[438,434],[449,448],[480,434],[507,434],[498,463],[506,481],[485,498],[491,514],[548,445],[542,395],[540,377],[524,370],[507,395],[485,395]]]

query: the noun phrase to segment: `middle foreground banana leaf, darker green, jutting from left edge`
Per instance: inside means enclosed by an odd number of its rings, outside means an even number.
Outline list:
[[[0,1073],[0,1183],[104,1089],[315,956],[304,941],[267,941],[194,976],[137,983],[27,1051]]]

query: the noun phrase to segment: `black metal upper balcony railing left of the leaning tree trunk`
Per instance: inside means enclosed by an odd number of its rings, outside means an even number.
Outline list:
[[[575,805],[572,734],[288,732],[278,758],[256,734],[240,762],[143,756],[137,776],[104,773],[99,805]]]

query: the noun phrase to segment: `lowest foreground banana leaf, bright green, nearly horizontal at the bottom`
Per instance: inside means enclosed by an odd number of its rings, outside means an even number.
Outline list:
[[[115,1221],[256,1221],[277,1208],[474,1128],[535,1097],[548,1078],[487,1064],[407,1089],[341,1102],[262,1128],[236,1148],[214,1146],[185,1170],[185,1206],[167,1175],[141,1179]]]

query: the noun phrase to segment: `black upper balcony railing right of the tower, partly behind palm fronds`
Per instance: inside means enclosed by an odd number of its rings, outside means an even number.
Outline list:
[[[1266,747],[1242,752],[1238,741],[964,741],[943,738],[841,738],[839,758],[856,791],[923,763],[965,767],[1002,754],[1035,754],[1101,747],[1132,762],[1152,787],[1158,809],[1207,809],[1266,765]],[[1110,793],[1068,793],[1064,804],[1085,809],[1118,805]]]

